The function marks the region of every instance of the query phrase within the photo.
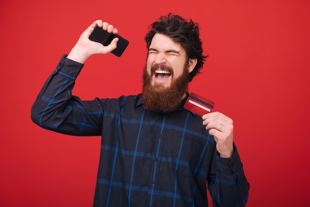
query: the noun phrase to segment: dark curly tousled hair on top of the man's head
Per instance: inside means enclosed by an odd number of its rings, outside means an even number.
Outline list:
[[[156,33],[167,35],[180,44],[186,51],[187,62],[190,58],[197,58],[197,64],[190,73],[189,81],[201,73],[204,61],[208,55],[203,55],[202,41],[199,37],[199,24],[192,19],[186,20],[179,15],[169,13],[167,16],[160,16],[157,21],[149,26],[149,32],[145,36],[147,49],[150,48],[152,39]]]

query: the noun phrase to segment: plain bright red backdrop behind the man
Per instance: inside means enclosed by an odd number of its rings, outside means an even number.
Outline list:
[[[251,184],[248,207],[310,206],[309,0],[2,0],[0,206],[92,206],[100,137],[41,129],[30,108],[63,53],[96,19],[130,41],[121,57],[91,57],[74,95],[141,92],[144,35],[168,12],[200,22],[204,73],[190,92],[234,119]]]

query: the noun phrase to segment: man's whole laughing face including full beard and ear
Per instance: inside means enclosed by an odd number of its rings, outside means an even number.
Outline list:
[[[142,101],[149,111],[167,113],[177,109],[186,96],[189,72],[196,59],[186,61],[181,45],[168,36],[155,34],[143,71]]]

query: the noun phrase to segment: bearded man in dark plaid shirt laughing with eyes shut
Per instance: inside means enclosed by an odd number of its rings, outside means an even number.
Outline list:
[[[233,143],[233,121],[220,112],[184,109],[188,82],[204,60],[199,26],[178,15],[161,16],[145,36],[148,56],[143,92],[82,101],[71,95],[93,54],[117,47],[89,40],[95,21],[63,55],[32,106],[39,126],[77,136],[102,136],[94,207],[245,206],[249,183]]]

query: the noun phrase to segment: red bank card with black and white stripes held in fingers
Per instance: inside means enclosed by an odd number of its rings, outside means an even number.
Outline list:
[[[191,93],[186,100],[184,108],[196,113],[197,115],[203,116],[206,113],[212,111],[214,103],[198,96],[197,94]]]

